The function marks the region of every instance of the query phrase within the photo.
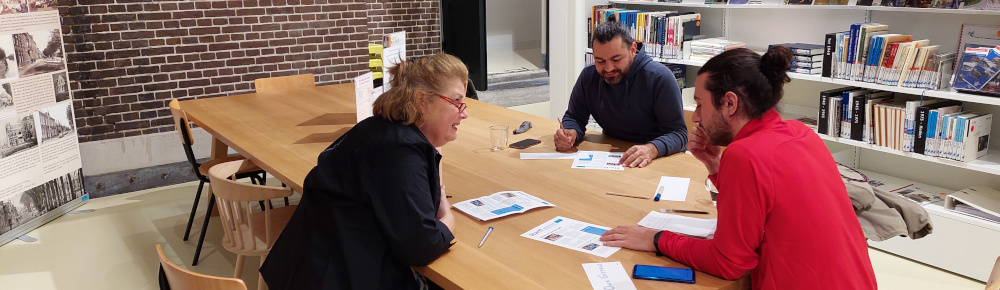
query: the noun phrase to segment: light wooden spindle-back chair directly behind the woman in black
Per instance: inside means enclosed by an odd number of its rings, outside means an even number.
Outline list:
[[[208,178],[212,180],[215,199],[219,204],[222,227],[225,228],[222,245],[237,255],[236,269],[233,272],[236,278],[243,272],[243,260],[246,256],[260,256],[260,262],[264,264],[264,258],[296,208],[294,205],[277,209],[265,207],[261,212],[253,212],[252,203],[270,203],[271,199],[291,196],[292,190],[229,179],[247,166],[252,166],[248,163],[246,160],[230,161],[208,170]],[[259,281],[259,285],[263,287],[263,279]]]

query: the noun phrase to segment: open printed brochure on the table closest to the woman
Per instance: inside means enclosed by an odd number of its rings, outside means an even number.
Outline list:
[[[456,209],[482,221],[523,213],[539,207],[555,207],[522,191],[501,191],[452,204]]]

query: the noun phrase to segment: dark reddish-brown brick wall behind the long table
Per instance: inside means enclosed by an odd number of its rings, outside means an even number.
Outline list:
[[[171,98],[253,91],[302,73],[318,85],[367,71],[369,40],[408,32],[409,56],[440,51],[430,0],[62,0],[80,142],[171,131]],[[366,36],[367,35],[367,36]]]

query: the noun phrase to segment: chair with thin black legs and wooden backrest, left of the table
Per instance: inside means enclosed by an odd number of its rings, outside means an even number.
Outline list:
[[[188,236],[191,234],[191,224],[194,222],[194,214],[198,211],[198,202],[201,200],[201,190],[205,186],[205,183],[209,182],[208,179],[208,169],[212,166],[228,161],[234,160],[244,160],[246,158],[242,156],[231,156],[225,158],[218,158],[209,160],[205,163],[198,163],[198,159],[194,156],[194,137],[191,135],[191,125],[188,123],[190,119],[187,117],[187,113],[181,110],[180,102],[177,99],[170,100],[170,114],[174,117],[174,126],[177,129],[177,133],[181,136],[181,145],[184,147],[184,154],[187,156],[188,163],[194,170],[194,174],[198,177],[198,191],[194,195],[194,203],[191,205],[191,214],[188,216],[187,226],[184,228],[184,240],[188,240]],[[264,171],[259,167],[250,166],[247,167],[245,171],[237,173],[237,178],[250,178],[252,182],[265,183],[264,177],[260,175],[264,174]],[[209,186],[209,194],[212,193],[212,188]],[[212,216],[212,209],[214,208],[214,198],[209,197],[208,202],[208,212],[205,214],[205,221],[201,226],[201,237],[198,238],[198,246],[195,248],[194,261],[191,263],[192,266],[198,265],[198,258],[201,256],[201,247],[205,242],[205,232],[208,230],[208,221]],[[286,204],[287,205],[287,204]]]

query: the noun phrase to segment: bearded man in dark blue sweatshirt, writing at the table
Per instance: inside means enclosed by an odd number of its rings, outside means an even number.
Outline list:
[[[661,156],[684,151],[681,92],[674,74],[642,50],[617,21],[594,29],[594,65],[583,69],[573,86],[569,108],[556,130],[556,150],[567,151],[583,141],[590,116],[604,135],[635,143],[619,163],[645,167]]]

